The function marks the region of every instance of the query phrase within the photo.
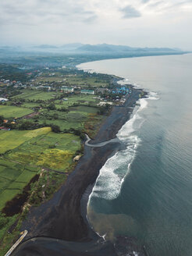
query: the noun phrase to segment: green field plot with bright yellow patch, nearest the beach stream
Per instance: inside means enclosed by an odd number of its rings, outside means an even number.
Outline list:
[[[50,132],[26,141],[7,154],[6,157],[15,162],[22,162],[23,165],[27,166],[64,170],[69,167],[69,159],[72,159],[72,156],[79,149],[79,137],[70,133]]]

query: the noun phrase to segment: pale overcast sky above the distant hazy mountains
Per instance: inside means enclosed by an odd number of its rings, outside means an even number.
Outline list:
[[[192,0],[0,0],[0,44],[192,50]]]

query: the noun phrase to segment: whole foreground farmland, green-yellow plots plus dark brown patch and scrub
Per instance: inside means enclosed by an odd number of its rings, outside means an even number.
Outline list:
[[[50,127],[0,131],[0,240],[4,244],[14,237],[14,233],[6,235],[7,229],[25,214],[23,204],[27,201],[29,207],[51,197],[73,170],[73,157],[80,150],[80,137],[53,133]],[[16,234],[20,223],[21,219]]]

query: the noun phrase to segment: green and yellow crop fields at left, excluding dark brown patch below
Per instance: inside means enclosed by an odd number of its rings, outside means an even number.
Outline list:
[[[2,139],[3,137],[3,139]],[[3,142],[9,141],[8,144]],[[16,142],[11,146],[11,142]],[[80,149],[80,138],[70,133],[52,133],[49,127],[32,131],[0,132],[0,210],[41,169],[65,171],[73,164],[73,155]],[[3,145],[5,148],[3,148]]]

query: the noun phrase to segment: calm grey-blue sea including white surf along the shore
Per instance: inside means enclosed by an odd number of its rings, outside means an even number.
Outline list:
[[[137,240],[150,256],[191,256],[192,55],[78,67],[121,76],[149,95],[117,133],[126,147],[100,170],[87,205],[90,225],[105,240]]]

